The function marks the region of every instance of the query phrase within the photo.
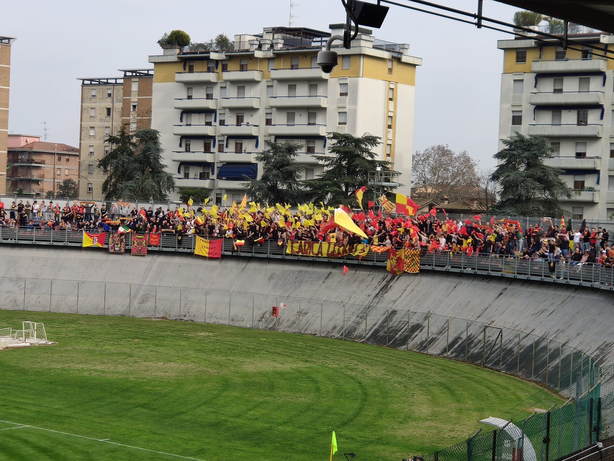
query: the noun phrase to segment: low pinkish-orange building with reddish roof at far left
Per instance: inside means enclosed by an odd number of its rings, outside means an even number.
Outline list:
[[[9,135],[7,193],[45,197],[55,194],[64,179],[77,181],[79,149],[41,142],[41,136]]]

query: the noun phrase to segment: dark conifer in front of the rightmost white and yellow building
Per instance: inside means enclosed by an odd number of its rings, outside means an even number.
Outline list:
[[[572,197],[572,191],[559,179],[561,169],[543,164],[552,157],[548,140],[516,133],[501,142],[506,148],[494,155],[500,164],[491,175],[501,187],[497,211],[515,216],[562,215],[565,210],[559,199]]]

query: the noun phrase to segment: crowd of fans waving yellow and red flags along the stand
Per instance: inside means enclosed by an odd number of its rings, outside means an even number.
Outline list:
[[[8,215],[7,215],[8,211]],[[481,216],[465,222],[437,219],[437,211],[421,216],[375,215],[369,210],[352,213],[352,219],[367,238],[333,228],[322,232],[332,216],[332,207],[303,205],[297,211],[277,204],[251,208],[131,207],[119,202],[110,210],[95,202],[40,203],[12,202],[8,210],[0,202],[0,225],[8,227],[42,227],[71,230],[118,230],[120,226],[135,232],[174,232],[182,235],[201,235],[208,238],[232,238],[249,245],[273,240],[279,245],[291,241],[343,242],[348,245],[365,243],[394,248],[421,248],[426,252],[464,252],[468,256],[490,254],[502,258],[521,258],[532,261],[558,262],[570,266],[594,264],[614,266],[614,249],[606,229],[586,226],[566,229],[550,219],[530,224],[523,230],[518,221],[494,218],[483,224]],[[584,223],[583,223],[584,224]]]

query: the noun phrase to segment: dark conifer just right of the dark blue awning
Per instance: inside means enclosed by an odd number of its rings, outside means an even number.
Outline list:
[[[301,144],[266,141],[268,149],[256,156],[262,162],[260,179],[246,178],[242,184],[252,200],[269,203],[297,203],[303,197],[301,176],[305,165],[298,164],[297,151]]]

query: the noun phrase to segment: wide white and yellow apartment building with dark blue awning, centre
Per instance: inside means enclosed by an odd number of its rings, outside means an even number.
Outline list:
[[[380,136],[376,149],[411,184],[416,66],[409,45],[376,40],[360,29],[351,49],[335,46],[330,74],[316,64],[331,31],[265,28],[235,36],[225,50],[185,52],[166,47],[153,63],[152,127],[160,130],[165,163],[183,187],[211,189],[226,204],[243,197],[244,175],[259,178],[265,141],[302,144],[303,178],[316,178],[329,132]]]

